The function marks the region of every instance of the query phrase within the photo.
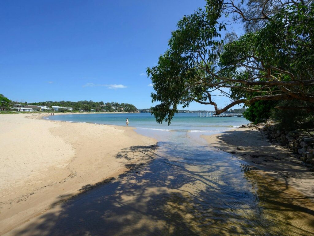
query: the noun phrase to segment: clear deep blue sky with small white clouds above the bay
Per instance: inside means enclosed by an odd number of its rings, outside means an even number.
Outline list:
[[[203,0],[2,1],[0,93],[29,103],[93,100],[148,108],[153,88],[146,68],[167,49],[177,21],[204,5]]]

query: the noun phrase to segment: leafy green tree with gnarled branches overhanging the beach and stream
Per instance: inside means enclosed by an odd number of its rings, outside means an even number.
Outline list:
[[[229,34],[224,44],[222,31],[237,20],[246,33]],[[216,114],[236,104],[293,99],[306,104],[294,109],[314,110],[313,1],[208,0],[177,27],[169,49],[147,69],[152,101],[160,102],[152,108],[158,122],[170,123],[177,106],[193,101],[213,105]],[[230,103],[219,108],[217,95]]]

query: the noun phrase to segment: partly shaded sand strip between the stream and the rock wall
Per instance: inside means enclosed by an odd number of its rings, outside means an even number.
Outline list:
[[[314,201],[314,173],[302,161],[290,157],[290,150],[268,140],[263,132],[239,128],[202,137],[210,146],[247,161],[260,175],[267,174]]]

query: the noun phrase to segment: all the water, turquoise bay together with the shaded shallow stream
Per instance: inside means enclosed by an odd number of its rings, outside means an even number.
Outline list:
[[[151,162],[63,203],[60,215],[43,216],[50,224],[36,229],[49,235],[314,235],[313,212],[287,203],[292,195],[284,194],[285,184],[200,138],[247,124],[244,118],[179,114],[168,126],[148,113],[49,117],[111,125],[125,125],[126,118],[156,138],[158,148],[131,147],[117,158],[139,153]]]

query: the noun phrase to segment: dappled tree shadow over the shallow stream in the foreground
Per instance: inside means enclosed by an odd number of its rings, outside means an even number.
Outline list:
[[[289,207],[261,204],[262,197],[269,199],[265,186],[229,154],[203,147],[158,153],[154,148],[122,150],[117,158],[143,155],[152,161],[128,163],[132,169],[117,179],[86,185],[72,199],[57,200],[15,235],[314,235],[293,224],[286,228],[289,219],[284,217],[275,222],[273,211],[285,214]],[[195,155],[208,160],[191,162]],[[295,234],[287,233],[291,228]]]

